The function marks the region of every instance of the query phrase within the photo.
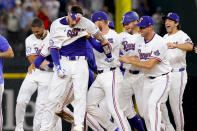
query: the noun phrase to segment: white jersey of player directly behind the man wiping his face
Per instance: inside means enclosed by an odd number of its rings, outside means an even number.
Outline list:
[[[104,38],[107,39],[110,45],[112,46],[111,53],[112,53],[112,57],[114,58],[114,61],[107,62],[105,60],[106,55],[104,53],[100,53],[94,50],[96,65],[97,65],[98,70],[103,70],[109,67],[120,66],[120,62],[119,62],[120,40],[119,40],[118,34],[114,30],[110,29],[109,32],[104,35]]]

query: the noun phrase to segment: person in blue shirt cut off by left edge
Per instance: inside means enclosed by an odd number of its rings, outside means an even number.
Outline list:
[[[0,35],[0,131],[3,128],[2,98],[4,91],[3,58],[14,58],[14,53],[8,41]]]

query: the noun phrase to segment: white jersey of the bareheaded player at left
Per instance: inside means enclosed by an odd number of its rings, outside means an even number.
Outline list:
[[[49,36],[49,31],[47,31],[47,36],[43,40],[37,39],[34,34],[28,36],[25,40],[26,56],[39,55],[44,44],[49,43]]]

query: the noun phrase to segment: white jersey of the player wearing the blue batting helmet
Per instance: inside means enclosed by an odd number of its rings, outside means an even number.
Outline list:
[[[121,41],[120,50],[126,56],[138,56],[137,52],[137,43],[136,40],[141,37],[140,34],[129,34],[127,32],[122,32],[119,34],[119,38]],[[138,67],[133,66],[131,64],[123,64],[123,68],[127,70],[139,70]]]

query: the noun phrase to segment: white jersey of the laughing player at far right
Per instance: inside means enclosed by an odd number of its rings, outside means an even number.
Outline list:
[[[190,37],[184,33],[182,30],[179,30],[177,33],[172,35],[164,35],[163,37],[167,42],[173,44],[184,44],[184,43],[192,43]],[[167,59],[170,62],[170,65],[173,68],[185,68],[186,67],[186,51],[174,48],[168,49],[167,51]]]

